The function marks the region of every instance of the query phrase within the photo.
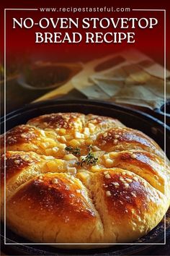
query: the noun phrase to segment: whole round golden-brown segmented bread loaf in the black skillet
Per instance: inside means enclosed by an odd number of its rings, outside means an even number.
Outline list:
[[[2,153],[3,143],[2,135]],[[89,145],[97,158],[90,165],[81,162]],[[66,147],[79,148],[80,154]],[[39,116],[6,133],[1,162],[6,163],[6,223],[33,242],[133,242],[153,229],[169,207],[164,152],[117,119]],[[1,177],[3,206],[3,164]]]

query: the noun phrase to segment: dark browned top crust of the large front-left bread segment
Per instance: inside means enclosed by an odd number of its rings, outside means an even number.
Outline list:
[[[19,189],[11,200],[27,202],[32,212],[55,214],[63,221],[78,221],[95,217],[88,201],[84,199],[84,190],[79,180],[68,174],[46,174],[32,179]],[[81,213],[81,214],[80,214]]]

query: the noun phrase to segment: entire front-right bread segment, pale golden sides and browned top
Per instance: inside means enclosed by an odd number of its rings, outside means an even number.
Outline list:
[[[95,173],[90,186],[106,242],[135,241],[156,226],[168,208],[161,192],[140,176],[120,168]]]

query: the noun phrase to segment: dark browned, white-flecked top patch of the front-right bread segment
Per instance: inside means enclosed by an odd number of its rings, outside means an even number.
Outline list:
[[[108,176],[110,176],[109,179]],[[105,170],[102,184],[106,194],[107,208],[113,210],[115,216],[119,218],[125,217],[126,210],[130,210],[131,215],[132,208],[137,210],[137,213],[148,212],[148,198],[152,201],[155,196],[153,190],[148,189],[146,182],[126,171],[117,173],[117,170]],[[108,191],[110,196],[107,196]]]

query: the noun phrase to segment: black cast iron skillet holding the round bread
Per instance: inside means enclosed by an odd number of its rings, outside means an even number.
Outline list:
[[[112,116],[122,121],[123,124],[134,129],[146,133],[148,136],[156,140],[158,145],[164,149],[164,123],[158,121],[148,114],[143,114],[140,111],[134,111],[131,108],[117,106],[113,103],[105,103],[102,101],[89,100],[58,100],[44,101],[33,103],[24,108],[19,108],[6,115],[6,130],[15,127],[18,124],[24,124],[27,120],[53,112],[71,112],[77,111],[84,114],[99,114],[104,116]],[[1,119],[1,133],[4,132],[4,118]],[[170,144],[170,127],[166,126],[166,144]],[[166,148],[166,155],[170,158],[170,149]],[[166,214],[169,216],[169,213]],[[21,245],[16,243],[29,242],[17,234],[6,228],[6,243],[14,243],[14,245],[4,245],[4,225],[1,223],[1,245],[10,255],[137,255],[139,252],[148,252],[156,243],[164,243],[164,221],[158,224],[155,229],[143,236],[135,243],[129,245],[115,245],[105,249],[58,249],[45,245]],[[170,224],[166,225],[166,239],[170,236]],[[145,243],[145,244],[143,244]],[[151,245],[148,245],[150,243]]]

